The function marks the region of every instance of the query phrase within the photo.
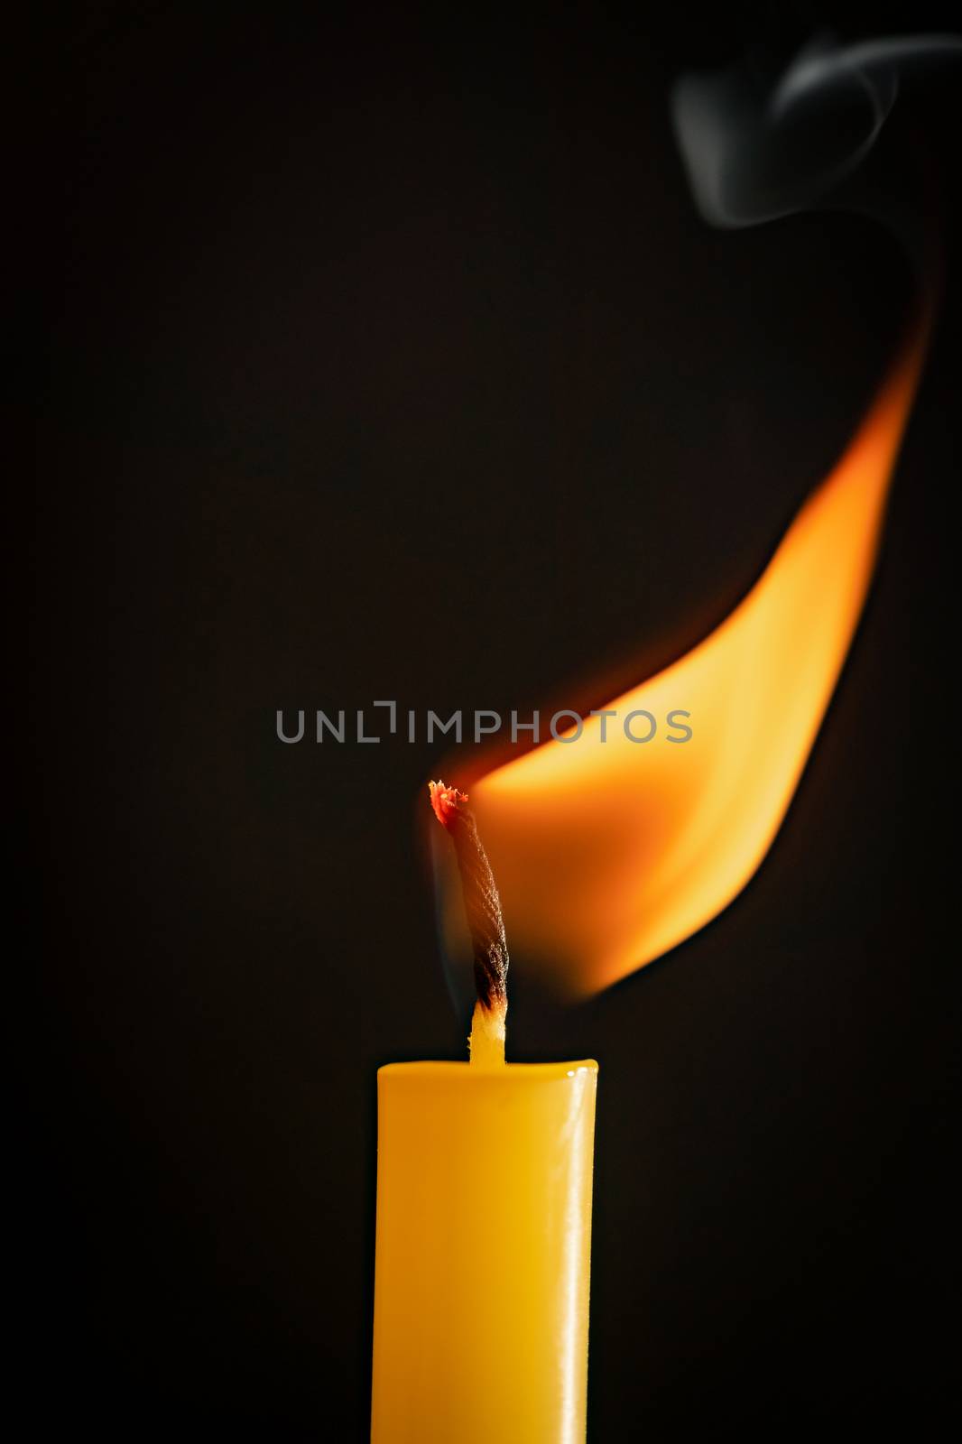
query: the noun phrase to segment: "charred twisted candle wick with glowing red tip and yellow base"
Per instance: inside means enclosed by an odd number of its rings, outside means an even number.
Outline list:
[[[464,911],[474,953],[478,1001],[471,1021],[471,1061],[504,1063],[508,952],[501,900],[488,855],[478,836],[468,794],[445,783],[429,783],[435,817],[448,832],[458,859]]]

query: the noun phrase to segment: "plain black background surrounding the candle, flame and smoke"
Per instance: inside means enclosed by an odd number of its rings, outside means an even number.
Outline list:
[[[38,1422],[365,1435],[374,1073],[464,1048],[416,827],[443,748],[282,747],[274,710],[604,697],[744,593],[911,287],[867,221],[705,227],[666,97],[825,19],[949,10],[51,22]],[[602,1069],[592,1441],[917,1431],[950,1393],[956,91],[906,87],[874,159],[940,170],[946,292],[768,859],[589,1005],[517,960],[513,1057]]]

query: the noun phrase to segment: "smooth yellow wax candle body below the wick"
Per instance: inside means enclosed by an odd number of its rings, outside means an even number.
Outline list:
[[[378,1071],[373,1444],[584,1440],[597,1076]]]

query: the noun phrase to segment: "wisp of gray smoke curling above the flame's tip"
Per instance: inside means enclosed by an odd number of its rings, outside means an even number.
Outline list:
[[[740,227],[806,209],[851,176],[885,123],[901,78],[962,56],[962,36],[838,45],[816,36],[780,77],[744,62],[682,75],[670,107],[699,211]]]

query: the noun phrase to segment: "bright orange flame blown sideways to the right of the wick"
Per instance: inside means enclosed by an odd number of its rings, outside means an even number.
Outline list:
[[[761,865],[832,697],[865,602],[888,482],[924,354],[916,326],[841,461],[734,612],[608,708],[690,712],[683,745],[638,745],[585,719],[475,780],[471,803],[513,953],[585,995],[709,923]],[[442,915],[449,950],[456,890]]]

